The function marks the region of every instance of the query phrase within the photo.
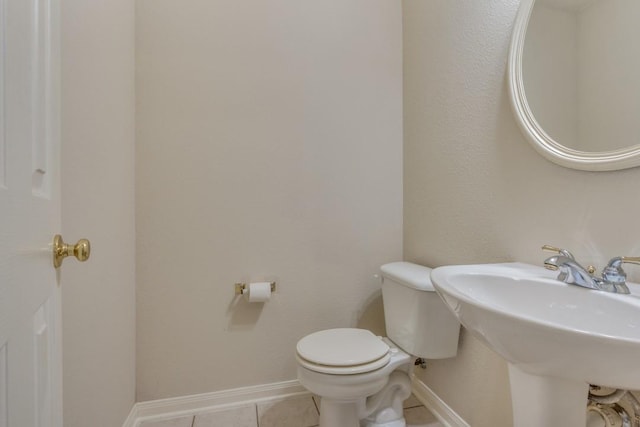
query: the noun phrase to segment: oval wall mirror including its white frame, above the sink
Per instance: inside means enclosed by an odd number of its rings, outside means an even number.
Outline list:
[[[509,53],[516,119],[559,165],[640,166],[640,1],[522,0]]]

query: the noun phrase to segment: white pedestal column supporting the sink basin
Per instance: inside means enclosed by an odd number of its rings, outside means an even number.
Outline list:
[[[509,363],[514,427],[584,427],[589,385],[528,374]]]

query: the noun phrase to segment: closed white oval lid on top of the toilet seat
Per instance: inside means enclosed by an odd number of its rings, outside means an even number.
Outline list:
[[[340,328],[307,335],[298,341],[297,351],[314,364],[346,367],[388,358],[389,346],[366,329]]]

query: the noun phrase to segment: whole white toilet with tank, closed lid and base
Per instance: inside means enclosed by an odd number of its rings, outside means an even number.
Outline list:
[[[298,380],[320,396],[320,427],[405,427],[414,358],[458,351],[460,324],[436,294],[431,269],[394,262],[380,270],[387,337],[338,328],[296,346]]]

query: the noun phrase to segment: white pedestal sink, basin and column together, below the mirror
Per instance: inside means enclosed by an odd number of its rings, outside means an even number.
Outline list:
[[[584,427],[589,384],[640,389],[640,286],[568,285],[522,263],[439,267],[460,323],[509,363],[515,427]]]

